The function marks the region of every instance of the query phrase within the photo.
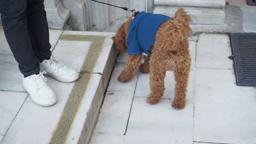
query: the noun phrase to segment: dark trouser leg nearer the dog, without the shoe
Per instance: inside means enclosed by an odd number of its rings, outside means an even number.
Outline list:
[[[44,0],[27,0],[27,22],[32,47],[40,62],[51,57]]]

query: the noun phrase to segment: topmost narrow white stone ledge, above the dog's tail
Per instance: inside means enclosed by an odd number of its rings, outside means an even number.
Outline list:
[[[155,0],[155,5],[167,5],[177,7],[202,7],[202,8],[225,8],[225,0],[203,1],[203,0]]]

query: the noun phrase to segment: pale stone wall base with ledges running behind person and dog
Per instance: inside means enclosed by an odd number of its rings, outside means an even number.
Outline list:
[[[98,0],[120,7],[173,16],[179,7],[188,11],[193,24],[220,25],[225,19],[225,0]],[[74,31],[106,29],[113,22],[130,17],[129,11],[91,0],[45,0],[49,27]],[[1,23],[0,23],[1,25]]]

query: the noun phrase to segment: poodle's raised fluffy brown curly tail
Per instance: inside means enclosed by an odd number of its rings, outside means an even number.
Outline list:
[[[192,22],[191,17],[183,8],[179,8],[172,19],[172,25],[164,35],[166,38],[171,38],[171,40],[167,42],[169,50],[177,50],[180,42],[184,41],[188,38],[188,35],[192,34],[189,22]]]

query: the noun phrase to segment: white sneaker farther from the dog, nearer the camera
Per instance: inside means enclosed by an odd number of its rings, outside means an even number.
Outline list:
[[[22,76],[22,84],[34,103],[42,106],[50,106],[57,102],[57,98],[53,90],[47,85],[47,79],[40,72],[38,75],[31,75],[28,77]]]

